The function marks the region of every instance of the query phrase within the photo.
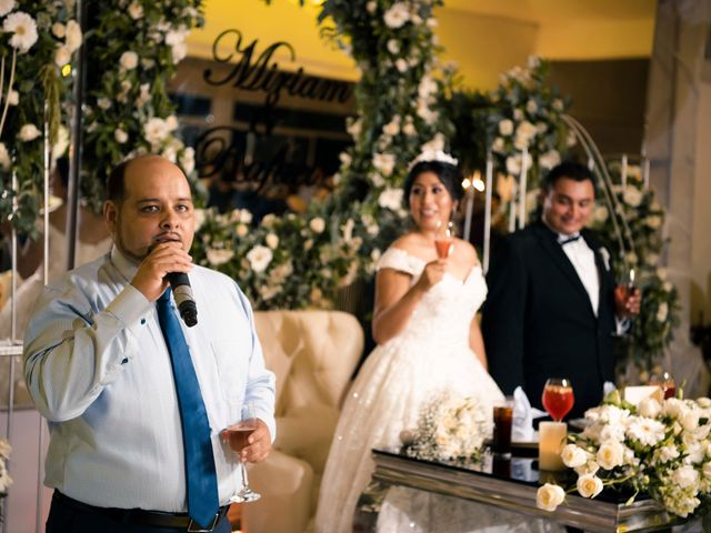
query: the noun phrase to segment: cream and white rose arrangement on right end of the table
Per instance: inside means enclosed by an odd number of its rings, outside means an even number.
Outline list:
[[[574,469],[574,490],[597,496],[604,486],[648,494],[667,511],[687,517],[711,493],[711,400],[650,396],[638,405],[618,391],[585,412],[588,425],[563,447],[563,463]],[[537,503],[553,511],[563,502],[562,487],[547,483]]]

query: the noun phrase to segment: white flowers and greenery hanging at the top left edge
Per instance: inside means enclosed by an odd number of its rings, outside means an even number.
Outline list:
[[[69,142],[62,125],[68,111],[60,102],[71,86],[67,66],[83,39],[70,3],[0,1],[0,220],[10,219],[17,202],[17,215],[10,220],[29,235],[36,233],[43,197],[44,123],[53,155]]]

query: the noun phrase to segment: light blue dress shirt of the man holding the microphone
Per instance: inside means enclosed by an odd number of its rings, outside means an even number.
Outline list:
[[[108,507],[186,511],[182,434],[154,302],[116,248],[44,289],[24,340],[24,376],[49,421],[46,484]],[[250,304],[228,276],[196,266],[198,325],[181,325],[211,428],[220,504],[240,487],[220,430],[246,400],[276,435],[274,378]]]

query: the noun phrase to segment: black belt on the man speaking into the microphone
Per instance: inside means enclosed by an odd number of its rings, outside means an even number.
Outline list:
[[[59,491],[54,491],[52,499],[56,500],[57,503],[69,507],[109,516],[123,524],[148,525],[149,527],[169,527],[187,532],[204,533],[209,533],[214,530],[218,522],[222,520],[229,509],[229,505],[221,506],[214,515],[212,524],[210,524],[209,527],[202,527],[197,522],[193,522],[188,513],[163,513],[161,511],[144,511],[142,509],[97,507],[96,505],[89,505],[88,503],[69,497]]]

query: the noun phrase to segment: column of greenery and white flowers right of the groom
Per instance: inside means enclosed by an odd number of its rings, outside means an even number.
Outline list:
[[[610,170],[620,181],[619,164],[610,164]],[[673,340],[674,328],[679,325],[679,293],[667,279],[667,270],[659,266],[665,240],[662,238],[664,210],[654,198],[654,190],[642,183],[639,167],[630,167],[624,185],[613,185],[618,204],[618,220],[622,227],[622,250],[614,239],[615,232],[607,205],[600,203],[593,213],[592,228],[613,259],[614,273],[622,280],[629,269],[635,271],[635,285],[642,291],[640,314],[634,319],[630,334],[621,348],[622,364],[632,361],[640,380],[645,382],[651,369],[659,362],[664,350]],[[599,194],[600,197],[601,194]]]

